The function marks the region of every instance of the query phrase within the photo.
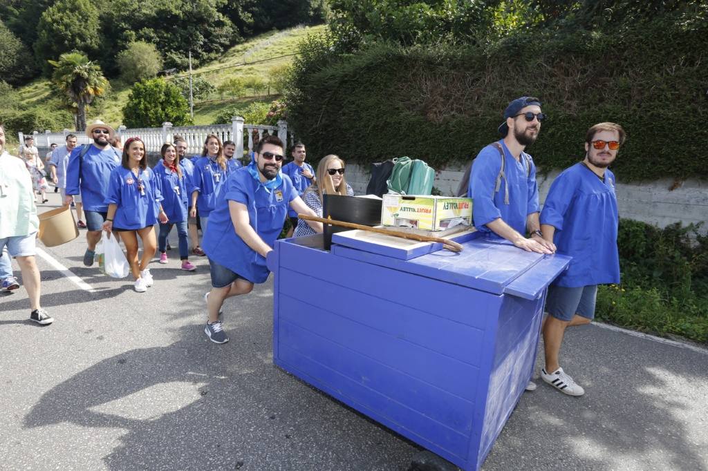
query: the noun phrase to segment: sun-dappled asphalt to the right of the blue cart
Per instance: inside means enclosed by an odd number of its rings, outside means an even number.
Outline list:
[[[484,470],[708,470],[707,354],[588,325],[566,332],[561,365],[586,394],[537,377]]]

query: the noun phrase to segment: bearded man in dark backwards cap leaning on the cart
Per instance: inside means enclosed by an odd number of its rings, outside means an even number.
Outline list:
[[[524,152],[538,137],[545,118],[538,98],[523,96],[509,103],[498,127],[502,139],[484,147],[472,163],[467,196],[474,200],[472,216],[478,231],[527,252],[549,254],[556,246],[542,236],[536,166]],[[532,382],[526,387],[535,389]]]

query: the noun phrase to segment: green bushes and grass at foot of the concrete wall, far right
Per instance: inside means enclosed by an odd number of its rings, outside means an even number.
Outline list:
[[[619,221],[622,283],[600,286],[598,318],[708,344],[708,236],[697,229]]]

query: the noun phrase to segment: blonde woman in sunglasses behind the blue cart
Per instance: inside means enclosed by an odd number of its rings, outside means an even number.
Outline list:
[[[319,217],[322,217],[325,194],[354,196],[354,190],[344,178],[344,161],[332,153],[319,161],[315,181],[316,183],[313,183],[304,191],[302,199]],[[311,236],[314,233],[314,229],[309,224],[298,224],[293,236]]]

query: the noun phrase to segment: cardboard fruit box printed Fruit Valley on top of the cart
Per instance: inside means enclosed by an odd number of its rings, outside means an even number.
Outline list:
[[[472,199],[416,194],[384,194],[381,207],[384,226],[403,226],[423,231],[445,231],[472,225]]]

